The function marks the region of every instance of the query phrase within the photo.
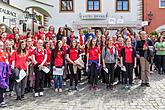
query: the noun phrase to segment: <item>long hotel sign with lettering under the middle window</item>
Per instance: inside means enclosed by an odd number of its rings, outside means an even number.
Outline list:
[[[108,15],[107,14],[81,14],[80,18],[82,20],[106,20]]]

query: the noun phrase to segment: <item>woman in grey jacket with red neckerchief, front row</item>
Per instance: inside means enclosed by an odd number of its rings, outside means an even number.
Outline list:
[[[105,73],[106,88],[113,89],[114,82],[114,70],[118,63],[118,52],[116,47],[113,45],[113,40],[108,40],[107,46],[102,51],[103,68],[108,69],[108,73]],[[109,81],[109,77],[111,78]]]

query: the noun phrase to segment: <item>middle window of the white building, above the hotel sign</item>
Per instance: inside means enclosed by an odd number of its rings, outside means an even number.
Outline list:
[[[87,11],[100,11],[100,0],[87,0]]]

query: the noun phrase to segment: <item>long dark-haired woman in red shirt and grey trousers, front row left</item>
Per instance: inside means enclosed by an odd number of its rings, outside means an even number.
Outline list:
[[[26,51],[26,42],[20,41],[18,49],[12,54],[12,69],[14,69],[15,71],[14,73],[16,74],[16,79],[19,79],[18,72],[20,70],[27,70],[27,58],[28,53]],[[25,83],[26,77],[24,77],[20,82],[15,83],[15,91],[17,95],[16,100],[21,100],[22,98],[24,98]]]

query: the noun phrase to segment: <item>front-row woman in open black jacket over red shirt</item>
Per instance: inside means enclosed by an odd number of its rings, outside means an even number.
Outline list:
[[[126,38],[126,46],[121,50],[121,67],[126,68],[124,75],[124,85],[126,89],[130,89],[133,81],[133,68],[136,67],[136,51],[132,47],[131,39]],[[129,82],[127,82],[129,79]]]

